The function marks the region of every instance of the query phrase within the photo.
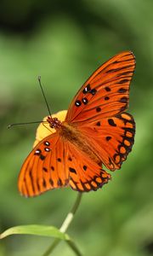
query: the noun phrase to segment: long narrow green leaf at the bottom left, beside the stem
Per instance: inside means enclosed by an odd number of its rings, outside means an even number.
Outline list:
[[[70,237],[67,234],[60,232],[54,226],[44,226],[44,225],[20,225],[12,227],[8,230],[5,230],[1,235],[0,239],[3,239],[6,236],[10,235],[36,235],[36,236],[49,236],[56,237],[61,240],[70,241]]]

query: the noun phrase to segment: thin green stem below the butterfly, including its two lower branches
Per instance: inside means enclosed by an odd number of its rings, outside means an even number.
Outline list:
[[[63,224],[61,225],[61,227],[59,229],[62,233],[65,233],[65,231],[68,229],[69,225],[71,224],[71,221],[74,218],[75,213],[77,212],[77,208],[80,205],[81,199],[82,199],[82,193],[78,192],[77,199],[76,199],[73,207],[71,208],[71,211],[67,214]],[[50,253],[52,253],[54,248],[57,247],[57,245],[59,244],[60,241],[61,240],[59,240],[58,238],[54,239],[54,241],[51,244],[51,246],[48,247],[47,251],[45,253],[43,253],[42,256],[48,256]],[[75,244],[74,241],[67,241],[67,243],[69,244],[69,246],[71,247],[73,252],[77,254],[77,256],[81,256],[82,255],[79,252],[79,250],[77,248],[77,245]]]

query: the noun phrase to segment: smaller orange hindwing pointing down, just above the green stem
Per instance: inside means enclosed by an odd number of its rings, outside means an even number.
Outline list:
[[[111,179],[111,175],[102,169],[101,164],[91,160],[72,143],[67,142],[69,152],[65,167],[69,171],[70,186],[80,192],[97,190]]]

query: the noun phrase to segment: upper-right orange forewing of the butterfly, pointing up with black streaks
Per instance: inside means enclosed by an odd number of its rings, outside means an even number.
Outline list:
[[[134,67],[135,58],[130,51],[106,61],[77,92],[65,120],[87,123],[125,111]]]

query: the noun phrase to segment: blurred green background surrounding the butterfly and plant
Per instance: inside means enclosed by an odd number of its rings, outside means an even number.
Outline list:
[[[17,177],[37,125],[7,125],[48,114],[37,75],[53,113],[101,63],[131,49],[137,67],[129,112],[137,131],[133,152],[97,192],[84,194],[68,233],[83,255],[153,255],[153,1],[1,0],[0,3],[0,231],[19,224],[60,226],[76,199],[57,189],[26,199]],[[10,236],[0,255],[41,256],[51,239]],[[54,256],[74,255],[64,242]]]

